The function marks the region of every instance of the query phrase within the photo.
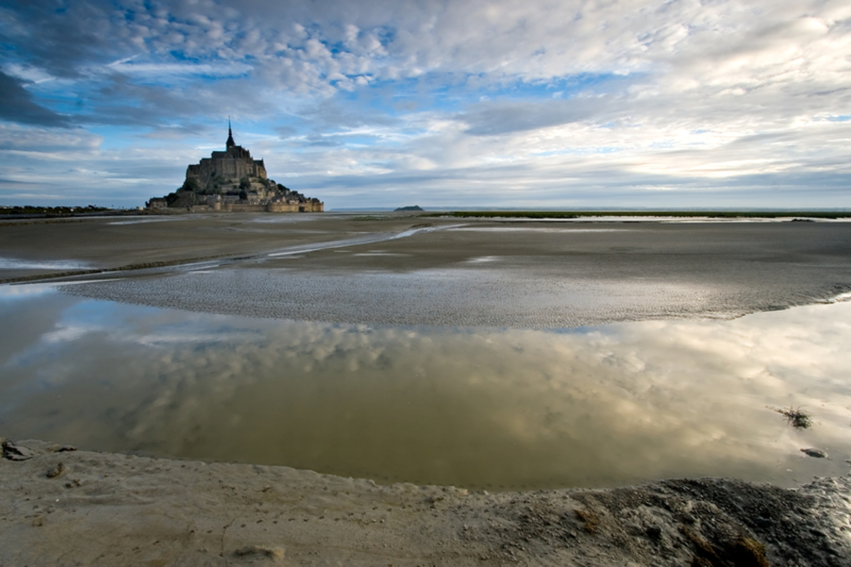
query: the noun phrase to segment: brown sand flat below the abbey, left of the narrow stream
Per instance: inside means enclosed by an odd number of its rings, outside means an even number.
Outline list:
[[[306,224],[310,224],[310,228]],[[131,264],[180,263],[193,258],[257,254],[277,247],[311,244],[334,239],[337,235],[370,231],[375,228],[368,221],[308,214],[20,220],[0,224],[0,258],[30,262],[74,258],[89,269],[117,269]],[[3,269],[0,264],[0,281],[51,275],[57,271],[68,270],[21,271]]]

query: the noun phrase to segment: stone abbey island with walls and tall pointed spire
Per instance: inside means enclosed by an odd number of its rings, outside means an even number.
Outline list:
[[[214,151],[200,163],[186,167],[179,190],[146,203],[149,209],[183,208],[191,211],[242,213],[322,213],[324,204],[276,184],[266,176],[266,164],[233,141],[227,124],[225,151]]]

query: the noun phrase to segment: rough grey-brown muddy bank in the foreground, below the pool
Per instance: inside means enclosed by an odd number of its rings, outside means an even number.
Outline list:
[[[5,440],[0,566],[836,565],[851,477],[468,492]]]

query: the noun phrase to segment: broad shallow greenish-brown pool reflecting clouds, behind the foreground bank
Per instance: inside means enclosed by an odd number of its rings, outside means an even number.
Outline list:
[[[701,475],[795,485],[848,468],[851,303],[546,332],[3,290],[15,292],[0,299],[11,438],[491,489]],[[796,430],[767,405],[804,405],[816,424]],[[799,451],[811,446],[831,460]]]

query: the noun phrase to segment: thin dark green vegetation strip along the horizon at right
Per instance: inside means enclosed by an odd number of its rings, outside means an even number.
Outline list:
[[[837,211],[454,211],[424,217],[581,218],[581,217],[710,217],[710,218],[849,218]]]

